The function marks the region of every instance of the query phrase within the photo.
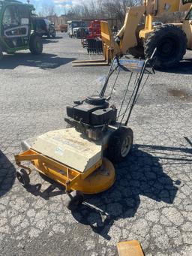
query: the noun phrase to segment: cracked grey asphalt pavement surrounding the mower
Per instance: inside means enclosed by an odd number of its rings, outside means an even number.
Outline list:
[[[133,150],[115,166],[116,182],[77,212],[66,195],[31,173],[23,188],[13,154],[20,141],[65,127],[65,107],[97,91],[107,67],[72,68],[87,59],[80,41],[59,34],[42,56],[6,55],[0,64],[1,255],[116,255],[138,239],[145,255],[192,255],[192,62],[151,76],[133,110]],[[124,81],[124,77],[122,77]],[[119,89],[121,98],[123,90]],[[55,188],[55,189],[54,189]]]

